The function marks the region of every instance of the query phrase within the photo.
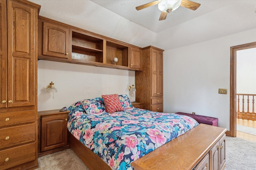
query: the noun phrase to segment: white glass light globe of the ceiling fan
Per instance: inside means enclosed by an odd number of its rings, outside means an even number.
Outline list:
[[[162,12],[168,13],[176,10],[181,4],[181,0],[161,0],[161,2],[158,3],[158,9]],[[172,9],[171,11],[169,9]]]

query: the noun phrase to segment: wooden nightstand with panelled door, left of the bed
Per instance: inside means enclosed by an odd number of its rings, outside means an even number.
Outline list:
[[[38,156],[68,149],[68,113],[70,111],[38,111]]]

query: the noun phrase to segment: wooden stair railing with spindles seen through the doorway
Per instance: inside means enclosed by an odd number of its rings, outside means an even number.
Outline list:
[[[247,111],[244,112],[244,100],[247,96]],[[250,96],[250,97],[249,97]],[[237,112],[236,116],[238,119],[247,119],[255,121],[255,112],[254,112],[254,97],[256,94],[236,94],[237,98]],[[240,112],[240,98],[242,98],[242,112]],[[250,100],[252,100],[252,103],[250,103]],[[252,108],[250,112],[250,106]]]

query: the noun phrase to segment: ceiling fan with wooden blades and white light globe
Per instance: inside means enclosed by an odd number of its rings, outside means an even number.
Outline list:
[[[170,14],[170,12],[176,10],[179,6],[183,6],[190,10],[196,10],[201,5],[196,2],[192,2],[190,0],[155,0],[147,4],[137,6],[136,10],[142,10],[144,8],[148,8],[156,4],[158,4],[158,9],[162,11],[159,21],[165,20],[167,14]]]

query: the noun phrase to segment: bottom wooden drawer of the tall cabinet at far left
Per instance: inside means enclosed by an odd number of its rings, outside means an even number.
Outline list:
[[[36,159],[36,143],[0,151],[0,169],[8,169]]]

